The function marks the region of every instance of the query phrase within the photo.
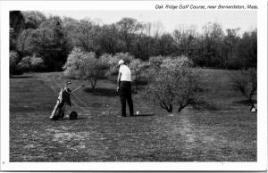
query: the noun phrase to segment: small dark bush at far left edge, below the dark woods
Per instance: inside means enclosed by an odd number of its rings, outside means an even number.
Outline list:
[[[9,53],[9,74],[10,75],[21,75],[22,71],[18,63],[20,62],[19,54],[14,51]]]

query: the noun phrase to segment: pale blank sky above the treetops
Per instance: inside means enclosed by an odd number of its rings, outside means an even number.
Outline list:
[[[61,17],[71,17],[81,20],[90,18],[101,21],[103,24],[111,24],[120,21],[123,17],[131,17],[143,22],[161,22],[164,32],[172,32],[174,29],[188,28],[190,26],[202,32],[202,27],[207,22],[217,22],[222,29],[240,28],[239,34],[257,28],[257,14],[254,11],[43,11]],[[183,27],[184,26],[184,27]]]

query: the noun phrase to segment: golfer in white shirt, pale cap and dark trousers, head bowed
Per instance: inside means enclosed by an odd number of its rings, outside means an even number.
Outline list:
[[[126,102],[129,104],[130,116],[133,116],[133,103],[131,98],[131,71],[123,60],[118,62],[119,74],[117,78],[117,91],[121,99],[121,116],[126,117]]]

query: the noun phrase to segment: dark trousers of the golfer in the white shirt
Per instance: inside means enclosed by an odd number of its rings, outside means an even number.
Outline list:
[[[131,97],[131,82],[121,81],[120,83],[120,99],[121,99],[121,116],[126,116],[126,102],[129,104],[130,116],[133,116],[133,102]]]

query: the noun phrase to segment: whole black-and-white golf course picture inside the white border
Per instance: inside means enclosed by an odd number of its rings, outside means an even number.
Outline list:
[[[231,5],[8,10],[5,162],[256,163],[260,7]]]

